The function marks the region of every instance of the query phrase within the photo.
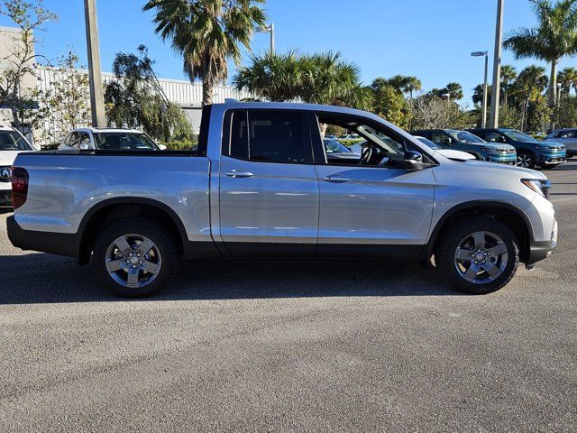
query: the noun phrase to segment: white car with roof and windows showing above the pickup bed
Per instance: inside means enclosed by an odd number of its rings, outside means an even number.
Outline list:
[[[159,151],[163,144],[154,143],[147,134],[135,129],[79,128],[70,132],[59,146],[60,150]]]

